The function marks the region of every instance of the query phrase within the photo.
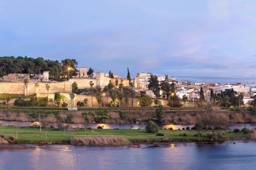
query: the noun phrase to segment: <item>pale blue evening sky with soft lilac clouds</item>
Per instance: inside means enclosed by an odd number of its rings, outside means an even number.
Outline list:
[[[125,78],[256,83],[256,1],[1,0],[0,56],[76,59]]]

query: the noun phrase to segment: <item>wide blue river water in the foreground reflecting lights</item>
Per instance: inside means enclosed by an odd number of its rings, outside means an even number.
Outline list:
[[[121,147],[0,145],[0,169],[255,169],[256,142]]]

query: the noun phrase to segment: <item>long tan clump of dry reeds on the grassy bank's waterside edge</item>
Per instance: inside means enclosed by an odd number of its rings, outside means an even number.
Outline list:
[[[89,138],[74,138],[71,140],[72,145],[100,145],[100,146],[106,146],[106,145],[127,145],[130,142],[127,139],[124,138],[117,138],[112,136],[106,136],[101,135],[99,137],[89,137]]]

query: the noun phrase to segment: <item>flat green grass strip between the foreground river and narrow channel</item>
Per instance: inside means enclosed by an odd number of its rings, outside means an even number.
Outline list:
[[[219,133],[218,133],[219,132]],[[146,130],[132,129],[67,129],[31,128],[19,126],[0,126],[0,134],[9,143],[35,144],[71,144],[74,138],[91,139],[97,137],[114,137],[125,139],[130,143],[142,142],[197,142],[196,130],[159,130],[164,136],[156,133],[146,133]],[[211,141],[212,131],[202,131],[199,141]],[[234,133],[233,130],[219,130],[215,132],[214,141],[248,139],[243,133]],[[82,143],[74,143],[80,145]],[[113,143],[111,144],[113,145]]]

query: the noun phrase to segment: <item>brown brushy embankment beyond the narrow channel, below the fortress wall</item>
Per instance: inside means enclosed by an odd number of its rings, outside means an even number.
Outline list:
[[[165,109],[163,120],[165,123],[173,124],[195,124],[198,119],[198,113],[201,109]],[[243,110],[242,112],[233,112],[230,110],[223,110],[214,108],[214,112],[221,114],[228,123],[252,123],[256,122],[256,116],[251,116],[250,112]],[[107,124],[129,124],[148,120],[148,118],[156,119],[154,108],[143,109],[107,109],[102,111],[6,111],[0,110],[0,120],[5,121],[39,121],[38,113],[50,122],[66,122],[66,123],[84,123],[99,122]]]

